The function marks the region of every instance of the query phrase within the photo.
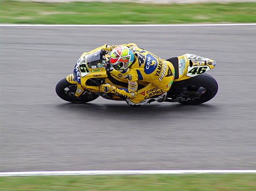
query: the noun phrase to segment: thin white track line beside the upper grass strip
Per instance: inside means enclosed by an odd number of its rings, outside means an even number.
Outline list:
[[[256,26],[256,23],[234,24],[177,24],[177,25],[3,25],[0,27],[212,27],[212,26]]]

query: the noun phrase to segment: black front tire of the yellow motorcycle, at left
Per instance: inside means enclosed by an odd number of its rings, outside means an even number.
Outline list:
[[[71,103],[87,103],[99,97],[98,95],[89,91],[80,95],[79,97],[76,97],[76,89],[77,85],[69,83],[66,78],[60,80],[55,87],[57,95],[65,101]]]

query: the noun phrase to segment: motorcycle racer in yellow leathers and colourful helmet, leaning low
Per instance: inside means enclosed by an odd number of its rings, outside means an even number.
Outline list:
[[[146,99],[163,102],[174,80],[175,69],[171,62],[160,59],[151,52],[141,49],[135,43],[121,46],[106,46],[110,52],[109,63],[122,74],[126,74],[127,88],[118,88],[110,84],[102,84],[100,88],[105,93],[114,93],[124,99],[129,105],[140,105]],[[138,82],[148,84],[138,89]]]

